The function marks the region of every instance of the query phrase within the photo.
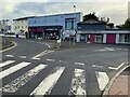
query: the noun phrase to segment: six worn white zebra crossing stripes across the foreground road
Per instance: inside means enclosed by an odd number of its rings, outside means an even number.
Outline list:
[[[15,65],[15,60],[5,60],[0,64],[0,68],[5,67],[10,64],[14,64],[14,66],[8,68],[6,70],[0,71],[0,80],[8,78],[10,74],[15,73],[18,70],[22,70],[31,63],[28,61],[21,61],[20,64]],[[39,64],[36,65],[30,70],[24,72],[22,75],[18,75],[12,81],[9,81],[8,84],[4,84],[0,87],[0,92],[2,93],[16,93],[21,87],[24,87],[26,83],[29,83],[30,80],[36,78],[38,73],[44,70],[49,65]],[[34,88],[29,96],[36,95],[51,95],[52,89],[58,83],[60,78],[63,75],[66,67],[56,66],[53,68],[52,71]],[[75,68],[72,77],[72,82],[69,85],[69,92],[67,95],[87,95],[87,79],[86,79],[86,70]],[[99,88],[103,91],[107,85],[109,79],[106,72],[95,71],[95,77],[99,83]]]

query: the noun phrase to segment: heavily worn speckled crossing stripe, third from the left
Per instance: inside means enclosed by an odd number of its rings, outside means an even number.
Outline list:
[[[29,80],[31,80],[46,67],[47,65],[39,65],[34,69],[29,70],[28,72],[24,73],[23,75],[18,77],[14,81],[10,82],[0,89],[2,89],[2,92],[4,93],[15,93],[17,89],[20,89],[23,85],[25,85]]]

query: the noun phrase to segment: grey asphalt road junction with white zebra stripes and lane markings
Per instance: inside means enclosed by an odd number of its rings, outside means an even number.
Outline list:
[[[10,40],[17,46],[2,53],[3,95],[98,95],[128,63],[128,48],[93,45],[50,51],[52,43]]]

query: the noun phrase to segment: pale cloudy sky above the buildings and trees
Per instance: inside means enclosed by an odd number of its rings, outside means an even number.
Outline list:
[[[76,12],[83,15],[95,12],[100,17],[109,17],[115,25],[128,18],[130,0],[1,0],[0,19],[26,16],[43,16]],[[129,3],[130,4],[130,3]],[[130,14],[130,13],[129,13]]]

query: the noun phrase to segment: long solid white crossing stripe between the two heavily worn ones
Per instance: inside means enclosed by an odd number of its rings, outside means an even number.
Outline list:
[[[57,80],[62,75],[65,67],[56,67],[52,73],[50,73],[30,95],[49,95],[56,84]]]

